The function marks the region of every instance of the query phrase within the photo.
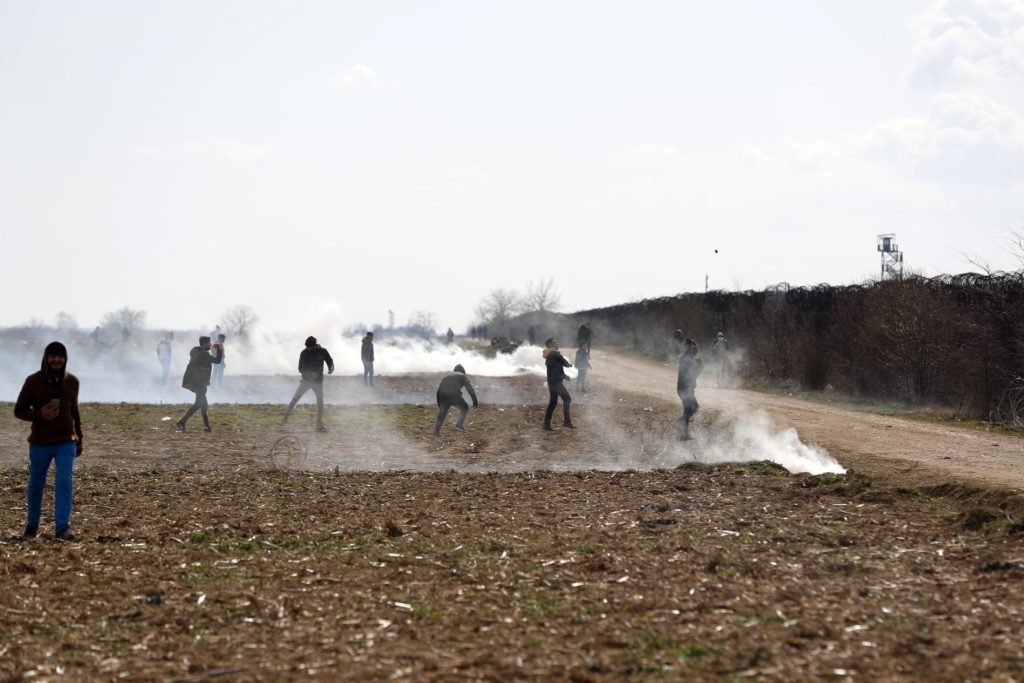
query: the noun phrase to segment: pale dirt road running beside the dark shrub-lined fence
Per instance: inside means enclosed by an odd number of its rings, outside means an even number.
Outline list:
[[[595,349],[592,377],[617,389],[679,402],[674,365]],[[703,378],[702,378],[703,379]],[[961,483],[1024,493],[1024,438],[860,413],[743,389],[717,389],[703,380],[703,409],[736,416],[762,413],[779,429],[868,476],[908,485]]]

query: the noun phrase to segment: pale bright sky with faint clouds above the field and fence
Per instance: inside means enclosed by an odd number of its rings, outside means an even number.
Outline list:
[[[3,326],[1020,267],[1024,0],[0,0],[0,230]]]

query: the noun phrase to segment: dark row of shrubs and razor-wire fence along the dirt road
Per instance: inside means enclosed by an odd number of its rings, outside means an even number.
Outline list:
[[[1024,374],[1024,271],[708,292],[580,311],[604,343],[663,355],[722,331],[736,372],[988,418]],[[600,342],[599,342],[600,343]]]

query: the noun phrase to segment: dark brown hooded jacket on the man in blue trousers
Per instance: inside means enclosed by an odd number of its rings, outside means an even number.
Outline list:
[[[68,357],[68,349],[59,342],[54,345]],[[42,368],[38,373],[29,375],[25,380],[17,401],[14,403],[14,416],[32,423],[29,443],[49,445],[66,441],[82,442],[82,418],[78,413],[78,378],[68,372],[68,364],[54,372],[46,362],[46,351],[43,351]],[[60,400],[60,412],[56,419],[43,418],[42,408],[50,400]]]

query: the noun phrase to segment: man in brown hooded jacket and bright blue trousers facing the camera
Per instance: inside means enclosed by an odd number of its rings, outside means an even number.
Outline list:
[[[43,351],[42,368],[26,378],[14,403],[14,416],[32,423],[25,539],[34,539],[39,531],[46,474],[50,463],[55,461],[54,536],[60,541],[75,540],[71,532],[72,471],[75,458],[82,455],[78,387],[78,378],[68,372],[67,347],[60,342],[50,342]]]

